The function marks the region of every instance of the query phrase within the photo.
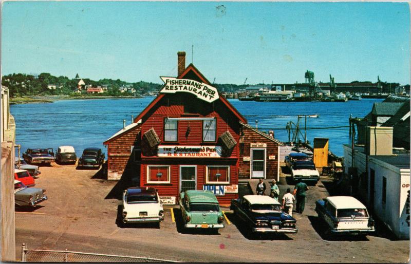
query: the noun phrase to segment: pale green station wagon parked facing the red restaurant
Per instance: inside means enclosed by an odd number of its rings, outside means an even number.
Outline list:
[[[224,216],[213,192],[185,191],[180,194],[179,203],[184,228],[217,230],[224,227]]]

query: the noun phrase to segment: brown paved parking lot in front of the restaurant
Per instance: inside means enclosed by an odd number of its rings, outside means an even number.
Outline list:
[[[409,241],[396,240],[383,227],[367,237],[325,240],[323,223],[314,202],[328,196],[327,178],[307,192],[303,214],[293,214],[297,234],[251,236],[228,208],[222,208],[226,227],[218,234],[200,230],[183,232],[178,206],[165,206],[160,229],[154,225],[122,227],[120,200],[113,198],[117,181],[107,181],[92,169],[75,165],[40,168],[36,186],[46,188],[48,200],[34,210],[18,210],[16,256],[21,245],[28,249],[71,250],[186,262],[407,262]],[[284,176],[284,175],[283,175]],[[281,195],[287,185],[282,177]]]

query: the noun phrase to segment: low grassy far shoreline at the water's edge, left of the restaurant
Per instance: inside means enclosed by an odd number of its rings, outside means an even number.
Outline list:
[[[13,104],[44,104],[53,103],[58,100],[88,100],[88,99],[131,99],[143,98],[135,96],[24,96],[10,98],[10,105]]]

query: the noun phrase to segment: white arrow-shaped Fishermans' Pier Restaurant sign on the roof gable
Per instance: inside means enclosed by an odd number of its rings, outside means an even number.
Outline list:
[[[218,99],[217,88],[190,79],[177,79],[175,77],[160,77],[164,87],[160,93],[176,93],[178,91],[189,92],[197,98],[212,103]]]

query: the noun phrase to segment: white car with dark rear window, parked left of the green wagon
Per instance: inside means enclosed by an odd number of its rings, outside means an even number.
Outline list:
[[[123,223],[162,222],[163,204],[153,187],[130,187],[123,193]]]

